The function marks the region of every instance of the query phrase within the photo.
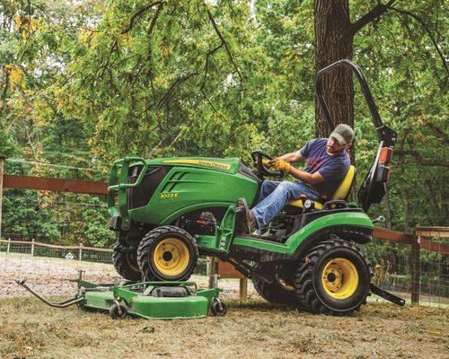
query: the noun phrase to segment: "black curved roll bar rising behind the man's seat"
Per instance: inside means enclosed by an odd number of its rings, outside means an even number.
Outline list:
[[[320,101],[321,108],[324,111],[324,116],[326,117],[330,128],[334,128],[335,124],[332,120],[332,117],[330,116],[330,110],[328,107],[328,104],[326,100],[324,99],[323,91],[322,91],[322,78],[324,74],[329,73],[333,69],[340,67],[340,66],[346,66],[349,67],[354,74],[356,74],[358,83],[360,83],[360,86],[362,88],[362,92],[365,96],[366,104],[368,105],[368,109],[371,113],[371,117],[373,118],[375,130],[377,132],[377,136],[379,136],[379,139],[381,142],[383,141],[384,146],[388,146],[393,148],[394,144],[396,143],[396,132],[394,132],[390,127],[384,126],[381,117],[379,116],[379,112],[377,111],[377,107],[375,106],[373,96],[371,95],[371,92],[369,91],[368,83],[366,83],[365,76],[362,73],[362,70],[359,66],[357,66],[355,63],[353,63],[351,60],[343,59],[334,62],[333,64],[330,64],[330,66],[326,66],[323,69],[321,69],[318,74],[316,74],[316,80],[315,80],[315,91],[318,96],[318,101]]]

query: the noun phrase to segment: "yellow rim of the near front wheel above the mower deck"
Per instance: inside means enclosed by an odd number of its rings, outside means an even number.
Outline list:
[[[189,261],[189,249],[178,238],[165,238],[157,243],[153,252],[154,267],[163,276],[180,275],[189,266]]]

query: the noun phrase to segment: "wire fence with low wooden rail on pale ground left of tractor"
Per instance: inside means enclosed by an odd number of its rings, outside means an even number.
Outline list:
[[[70,280],[84,272],[96,283],[123,281],[112,264],[112,250],[84,246],[56,246],[37,241],[0,241],[0,298],[24,294],[15,280],[26,279],[44,295],[71,295]],[[207,284],[209,261],[199,258],[194,276]]]

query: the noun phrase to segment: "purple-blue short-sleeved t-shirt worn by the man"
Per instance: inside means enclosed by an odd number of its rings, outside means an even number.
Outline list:
[[[327,138],[315,138],[299,150],[299,153],[307,158],[307,167],[304,171],[309,173],[319,171],[324,179],[322,182],[313,185],[321,196],[331,196],[336,191],[351,164],[346,150],[334,155],[328,154],[326,151],[327,142]]]

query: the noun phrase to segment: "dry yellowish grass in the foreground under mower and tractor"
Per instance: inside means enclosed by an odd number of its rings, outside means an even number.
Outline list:
[[[449,349],[447,309],[368,304],[337,318],[261,301],[228,304],[225,317],[162,321],[1,300],[0,357],[443,358]]]

